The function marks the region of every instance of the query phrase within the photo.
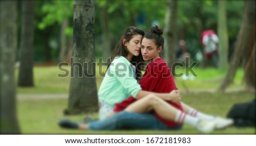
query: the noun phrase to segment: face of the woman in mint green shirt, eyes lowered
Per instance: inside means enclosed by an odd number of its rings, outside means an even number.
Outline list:
[[[125,42],[125,46],[128,50],[127,58],[131,59],[133,56],[138,56],[141,52],[141,40],[142,35],[134,35],[129,42]]]

